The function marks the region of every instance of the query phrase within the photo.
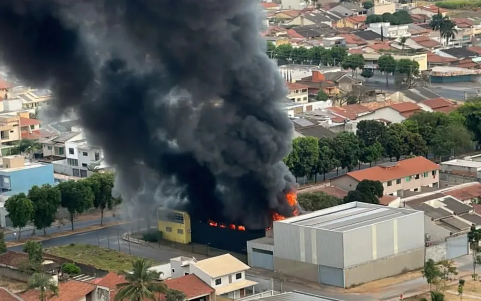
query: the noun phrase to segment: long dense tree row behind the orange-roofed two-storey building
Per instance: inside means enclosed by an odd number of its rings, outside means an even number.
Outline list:
[[[398,161],[403,156],[427,156],[460,154],[473,149],[473,134],[477,130],[481,141],[481,103],[477,103],[480,115],[467,116],[461,107],[450,114],[419,112],[401,123],[386,126],[376,120],[362,120],[356,133],[340,132],[334,137],[298,137],[292,142],[292,151],[284,163],[296,177],[324,174],[339,169],[352,171],[361,163],[373,163],[382,158]],[[471,107],[469,107],[471,108]],[[471,112],[471,110],[468,110]],[[466,117],[467,116],[467,117]],[[472,120],[472,127],[465,127]],[[478,123],[476,123],[476,121]]]

